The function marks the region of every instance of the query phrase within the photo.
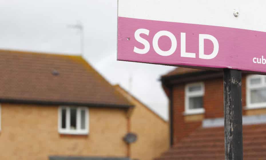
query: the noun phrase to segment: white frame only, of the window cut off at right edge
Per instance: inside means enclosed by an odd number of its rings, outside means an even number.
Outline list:
[[[247,79],[246,79],[246,103],[247,103],[246,108],[247,109],[266,108],[266,102],[251,104],[251,94],[250,94],[251,89],[266,87],[265,77],[266,77],[265,75],[248,75],[247,76]],[[261,84],[251,86],[250,84],[251,78],[261,78]]]

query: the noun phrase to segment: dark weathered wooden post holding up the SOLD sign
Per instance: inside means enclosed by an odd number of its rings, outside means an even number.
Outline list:
[[[241,71],[224,69],[225,160],[243,160]]]

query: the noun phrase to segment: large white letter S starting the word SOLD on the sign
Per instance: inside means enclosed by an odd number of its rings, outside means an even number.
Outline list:
[[[150,43],[147,40],[145,40],[144,38],[140,37],[140,34],[141,33],[146,34],[148,36],[149,35],[149,32],[150,32],[149,30],[146,30],[146,29],[143,29],[143,28],[140,28],[140,29],[136,30],[135,35],[134,35],[135,36],[135,39],[138,42],[140,42],[140,43],[142,43],[144,45],[144,49],[139,49],[136,46],[134,46],[134,50],[133,51],[135,53],[138,53],[138,54],[146,54],[147,52],[149,52],[149,50],[150,50]]]

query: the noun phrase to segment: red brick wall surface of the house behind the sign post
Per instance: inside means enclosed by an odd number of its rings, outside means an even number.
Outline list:
[[[195,81],[198,82],[198,81]],[[203,80],[205,86],[205,95],[203,97],[203,106],[205,113],[200,115],[184,115],[185,111],[185,85],[178,84],[173,87],[173,143],[174,145],[180,139],[196,130],[202,124],[204,118],[223,117],[223,77],[216,79]],[[193,83],[193,82],[192,82]],[[246,75],[242,76],[242,105],[243,115],[246,106]],[[261,111],[263,112],[263,111]]]

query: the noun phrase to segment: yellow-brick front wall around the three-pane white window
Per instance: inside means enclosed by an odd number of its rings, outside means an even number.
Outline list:
[[[126,111],[90,108],[88,136],[58,133],[58,107],[1,104],[0,159],[48,160],[50,155],[126,157]]]

